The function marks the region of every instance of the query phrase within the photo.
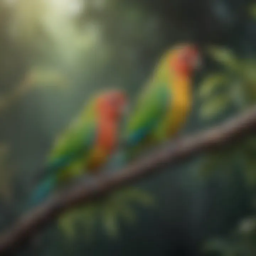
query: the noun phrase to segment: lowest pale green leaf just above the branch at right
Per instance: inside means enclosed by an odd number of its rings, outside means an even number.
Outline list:
[[[200,116],[203,119],[212,119],[225,111],[230,105],[229,95],[217,95],[203,103],[200,109]]]

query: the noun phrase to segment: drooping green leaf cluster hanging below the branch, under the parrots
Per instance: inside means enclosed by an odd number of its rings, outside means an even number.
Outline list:
[[[132,206],[153,206],[154,199],[149,193],[138,188],[127,188],[114,192],[98,202],[86,207],[79,207],[65,213],[59,219],[59,227],[67,238],[76,238],[76,231],[80,230],[88,240],[94,238],[98,223],[112,238],[117,237],[119,222],[133,224],[136,219]],[[82,229],[81,229],[82,227]]]

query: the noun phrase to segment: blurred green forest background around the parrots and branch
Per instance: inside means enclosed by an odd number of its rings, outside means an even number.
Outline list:
[[[175,43],[199,44],[184,130],[256,103],[256,5],[249,0],[1,0],[0,226],[23,212],[54,138],[97,90],[133,99]],[[172,167],[173,169],[174,167]],[[53,224],[17,255],[256,255],[256,137],[136,184],[155,197],[116,238],[67,238]]]

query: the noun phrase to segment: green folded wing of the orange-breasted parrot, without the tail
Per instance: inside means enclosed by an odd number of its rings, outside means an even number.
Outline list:
[[[56,140],[47,162],[48,175],[72,172],[81,169],[82,164],[85,166],[86,156],[95,143],[96,127],[97,118],[91,104]]]

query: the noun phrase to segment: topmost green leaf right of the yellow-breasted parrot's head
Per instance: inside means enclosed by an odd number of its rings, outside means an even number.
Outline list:
[[[209,47],[208,52],[213,59],[227,68],[231,68],[233,70],[237,69],[238,61],[230,49],[212,46]]]

